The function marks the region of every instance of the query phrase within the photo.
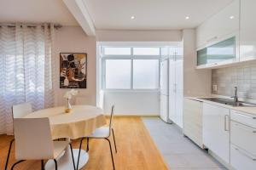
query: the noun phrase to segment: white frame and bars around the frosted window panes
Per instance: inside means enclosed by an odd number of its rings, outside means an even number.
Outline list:
[[[104,48],[130,48],[130,55],[105,55]],[[133,48],[160,48],[159,55],[134,55]],[[102,58],[102,90],[104,91],[128,91],[128,92],[158,92],[160,90],[160,59],[161,59],[161,48],[160,46],[101,46],[101,58]],[[129,59],[131,60],[131,84],[130,88],[106,88],[106,60],[108,59]],[[158,88],[133,88],[133,61],[134,59],[157,59],[158,60]]]

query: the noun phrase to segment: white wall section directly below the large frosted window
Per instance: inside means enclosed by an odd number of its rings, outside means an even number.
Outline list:
[[[115,105],[118,115],[159,115],[158,92],[108,92],[104,94],[104,111],[109,113]]]

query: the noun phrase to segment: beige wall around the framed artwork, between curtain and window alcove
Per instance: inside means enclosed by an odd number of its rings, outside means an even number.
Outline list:
[[[87,37],[81,27],[63,26],[55,31],[54,57],[57,69],[55,71],[56,105],[64,105],[63,95],[68,89],[60,88],[60,53],[87,53],[87,88],[79,89],[79,96],[91,99],[90,105],[96,105],[96,37]],[[75,98],[74,98],[75,99]],[[73,100],[74,100],[73,99]]]

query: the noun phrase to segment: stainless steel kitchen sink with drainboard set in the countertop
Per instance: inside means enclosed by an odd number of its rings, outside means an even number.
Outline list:
[[[256,106],[255,104],[250,104],[246,102],[234,102],[233,99],[224,99],[224,98],[200,98],[200,99],[206,99],[212,102],[217,102],[224,105],[232,105],[232,106]]]

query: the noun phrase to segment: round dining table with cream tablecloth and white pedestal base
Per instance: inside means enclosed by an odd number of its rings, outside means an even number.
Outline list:
[[[81,139],[89,136],[96,128],[106,125],[106,118],[101,108],[92,105],[73,105],[69,113],[65,112],[64,106],[52,107],[34,111],[24,118],[49,117],[52,139]],[[38,132],[40,133],[40,132]],[[38,146],[40,147],[40,146]],[[79,157],[79,169],[85,166],[89,160],[89,154],[85,150],[73,149],[75,165]],[[72,170],[73,159],[70,146],[64,150],[56,161],[59,170]],[[54,170],[55,162],[49,160],[45,163],[45,170]]]

